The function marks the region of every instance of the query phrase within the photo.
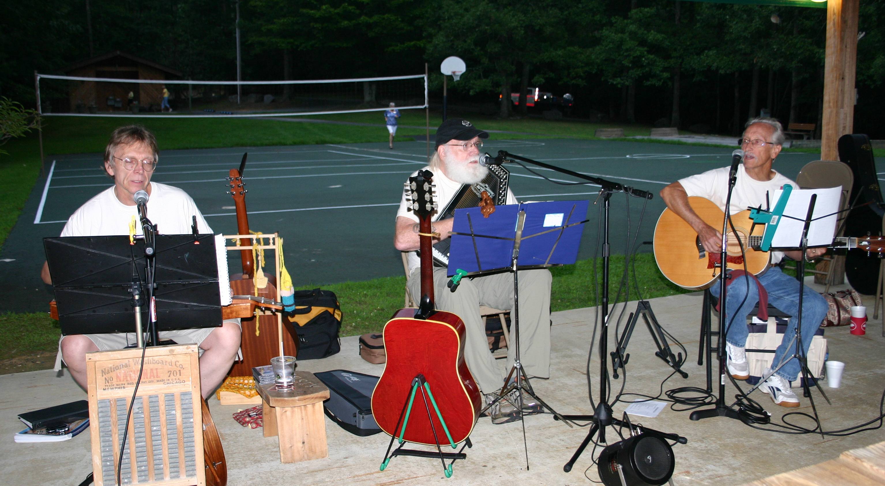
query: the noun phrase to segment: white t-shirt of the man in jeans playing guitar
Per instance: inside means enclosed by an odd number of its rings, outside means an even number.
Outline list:
[[[719,206],[722,211],[725,211],[725,198],[728,195],[728,171],[730,170],[731,167],[712,169],[704,174],[689,175],[685,179],[680,179],[679,183],[689,196],[706,197],[713,204]],[[737,181],[735,189],[731,193],[731,213],[737,214],[747,208],[758,207],[759,204],[762,205],[762,209],[773,207],[777,203],[774,200],[774,191],[781,189],[784,184],[789,184],[794,189],[799,188],[795,181],[789,180],[776,171],[773,172],[774,177],[771,181],[757,181],[747,174],[743,169],[743,164],[737,166]],[[714,226],[714,228],[716,227]],[[717,229],[720,228],[721,224]],[[782,251],[772,251],[772,263],[778,263],[781,258],[783,258]]]

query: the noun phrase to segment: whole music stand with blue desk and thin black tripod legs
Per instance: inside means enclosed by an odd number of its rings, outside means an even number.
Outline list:
[[[519,273],[518,270],[547,268],[573,264],[578,257],[583,224],[587,222],[589,201],[554,201],[545,203],[508,204],[497,206],[496,211],[483,217],[481,208],[459,209],[452,225],[449,274],[461,277],[478,276],[500,272],[513,274],[513,308],[511,311],[515,345],[513,365],[499,396],[487,404],[488,409],[512,390],[518,390],[518,403],[522,409],[523,393],[535,398],[544,408],[565,420],[564,417],[537,396],[519,360]],[[459,280],[458,280],[459,282]],[[457,289],[457,284],[450,287]],[[506,323],[501,323],[503,326]],[[514,376],[515,374],[515,376]],[[514,381],[511,383],[511,377]],[[566,421],[569,427],[572,424]],[[526,422],[522,420],[523,444],[526,444],[526,469],[528,448]]]

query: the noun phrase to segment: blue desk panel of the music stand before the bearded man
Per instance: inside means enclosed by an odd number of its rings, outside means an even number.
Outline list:
[[[481,208],[455,211],[448,275],[512,270],[515,245],[519,269],[573,264],[578,258],[589,201],[550,201],[496,206],[489,218]],[[525,216],[518,228],[519,213]],[[519,239],[518,239],[519,238]]]

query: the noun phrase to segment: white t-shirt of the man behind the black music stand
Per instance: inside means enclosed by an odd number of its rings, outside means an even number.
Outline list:
[[[68,218],[62,236],[128,235],[129,221],[135,216],[135,233],[142,234],[138,220],[138,206],[119,202],[114,187],[103,190],[89,199]],[[189,235],[193,216],[197,233],[212,233],[194,200],[181,189],[159,182],[150,182],[147,204],[148,219],[157,225],[160,235]]]

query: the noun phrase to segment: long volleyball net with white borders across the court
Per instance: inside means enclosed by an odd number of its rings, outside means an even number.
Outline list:
[[[257,118],[380,112],[388,110],[390,103],[399,110],[428,106],[425,74],[313,81],[191,81],[36,73],[35,89],[43,116]]]

